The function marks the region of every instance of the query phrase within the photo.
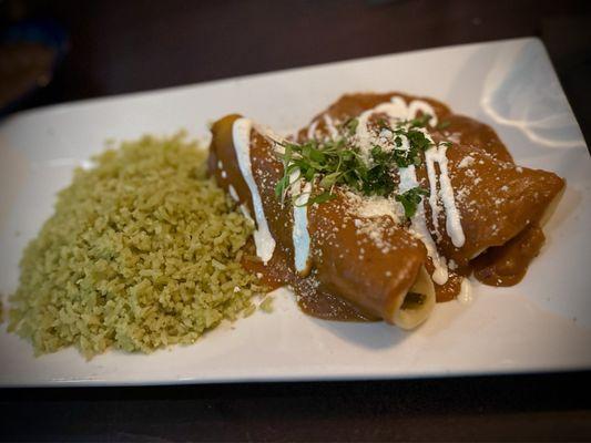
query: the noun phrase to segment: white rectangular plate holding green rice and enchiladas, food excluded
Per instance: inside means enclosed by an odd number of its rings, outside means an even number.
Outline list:
[[[0,125],[0,292],[17,288],[22,248],[52,213],[55,192],[108,138],[187,128],[240,112],[277,131],[305,125],[340,94],[404,91],[492,125],[519,164],[568,187],[548,241],[512,288],[475,284],[475,301],[438,305],[426,324],[316,320],[279,291],[273,315],[224,324],[190,347],[150,356],[72,349],[34,358],[0,329],[0,385],[336,380],[575,370],[591,367],[591,159],[542,44],[469,44],[330,63],[92,100],[14,115]]]

